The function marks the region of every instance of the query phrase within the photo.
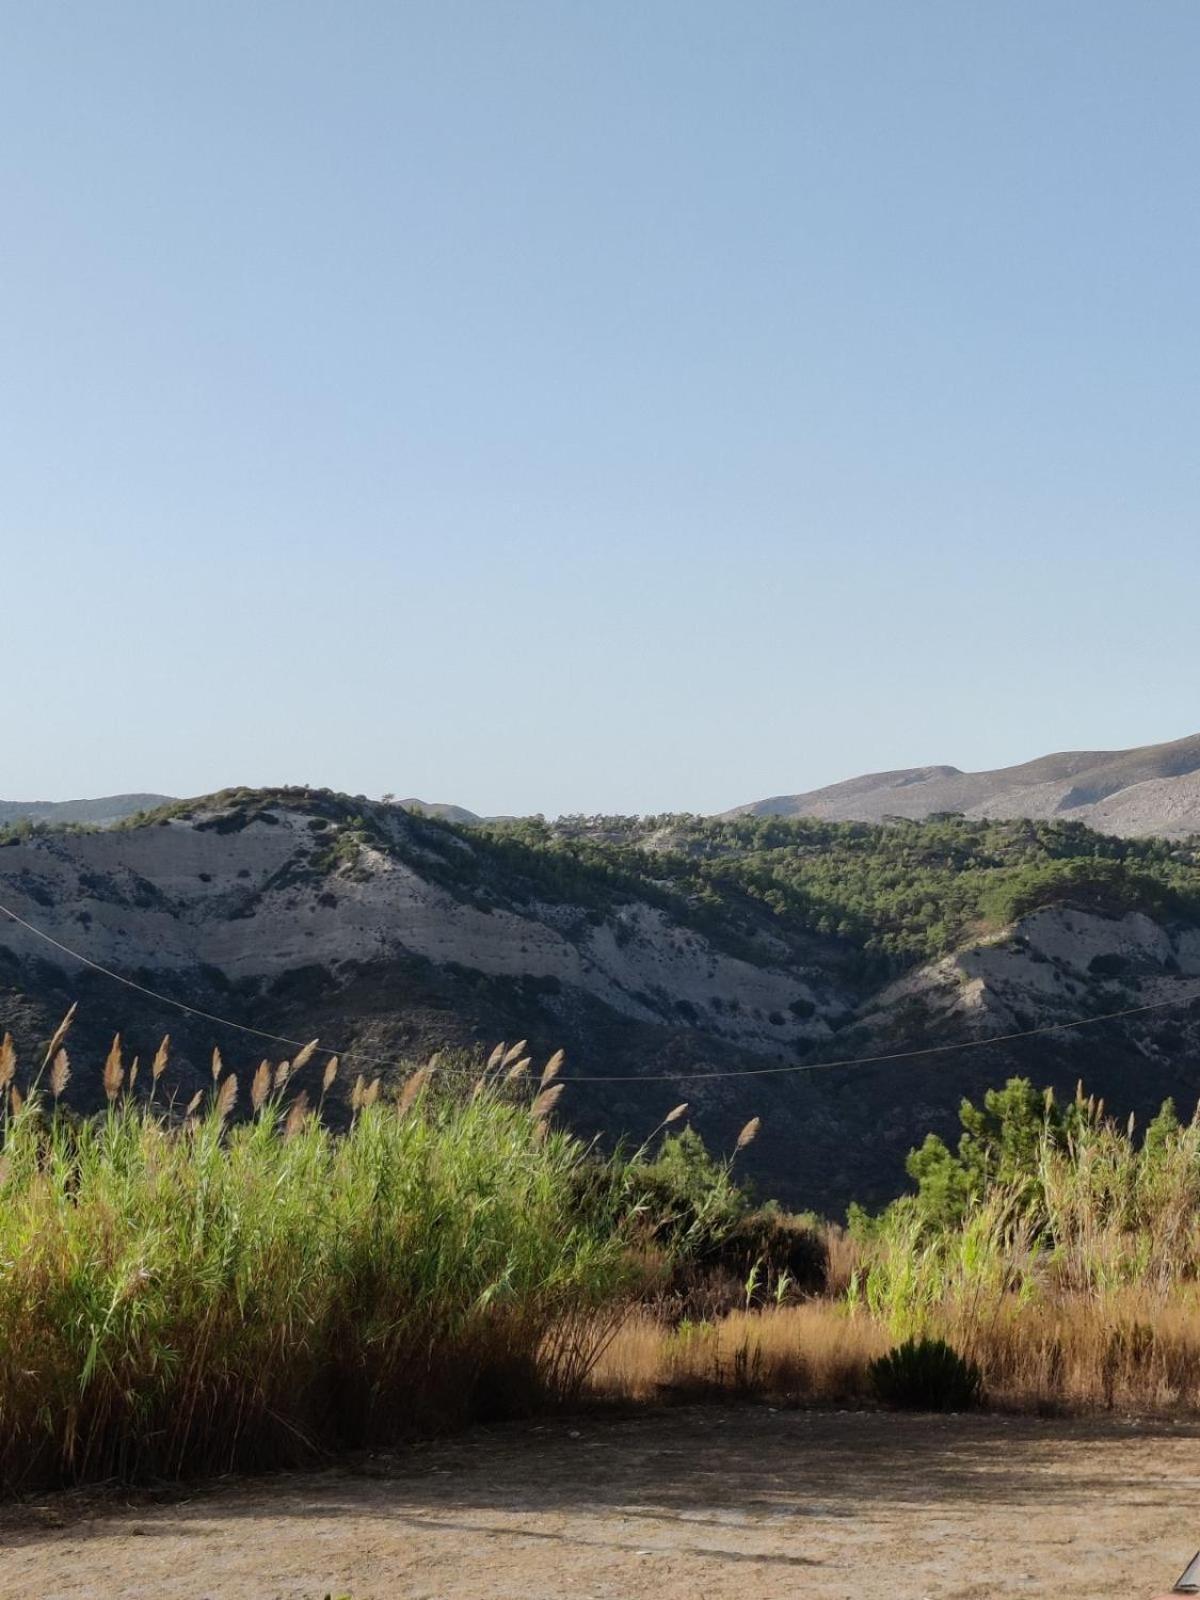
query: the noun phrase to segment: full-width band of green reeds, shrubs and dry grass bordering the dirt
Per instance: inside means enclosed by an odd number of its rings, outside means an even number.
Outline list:
[[[331,1133],[314,1046],[245,1091],[214,1054],[178,1106],[166,1045],[138,1082],[114,1042],[80,1117],[66,1026],[32,1082],[0,1040],[6,1490],[296,1464],[579,1395],[862,1403],[922,1336],[992,1405],[1200,1411],[1200,1123],[1170,1107],[1136,1136],[1048,1098],[955,1213],[939,1179],[821,1229],[738,1190],[755,1120],[720,1162],[659,1139],[677,1106],[600,1160],[554,1126],[562,1053],[360,1078]]]

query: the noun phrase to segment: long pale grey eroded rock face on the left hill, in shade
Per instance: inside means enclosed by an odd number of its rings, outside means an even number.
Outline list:
[[[707,1021],[749,1050],[824,1037],[819,1013],[848,1003],[840,992],[822,998],[794,971],[714,949],[637,901],[598,925],[570,906],[482,909],[387,848],[358,848],[352,867],[323,861],[323,830],[314,834],[302,811],[274,810],[235,832],[210,821],[10,845],[0,851],[5,904],[122,971],[210,968],[242,982],[421,957],[555,979],[645,1022]],[[19,926],[5,938],[21,957],[59,958]],[[770,1013],[781,1021],[766,1022]]]

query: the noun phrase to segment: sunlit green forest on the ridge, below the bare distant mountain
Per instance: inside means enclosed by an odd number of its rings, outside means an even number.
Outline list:
[[[602,874],[614,891],[638,882],[702,925],[750,933],[768,912],[781,933],[845,939],[906,965],[1040,906],[1070,904],[1158,918],[1200,915],[1200,846],[1112,838],[1078,822],[822,822],[698,816],[520,819],[470,829],[482,850],[566,888]],[[582,885],[579,885],[582,886]]]

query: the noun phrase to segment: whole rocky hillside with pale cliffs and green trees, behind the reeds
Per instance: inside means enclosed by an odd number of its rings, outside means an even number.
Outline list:
[[[432,1048],[568,1050],[562,1110],[642,1138],[688,1099],[715,1149],[757,1114],[766,1192],[880,1200],[962,1094],[1083,1075],[1120,1109],[1200,1091],[1200,866],[1077,824],[590,818],[462,827],[315,790],[227,792],[134,826],[0,835],[0,904],[192,1014],[0,917],[0,1026],[35,1059],[70,1000],[78,1102],[112,1032],[173,1035],[186,1099],[227,1022],[342,1051],[349,1077]],[[1166,1003],[1123,1022],[859,1067]],[[216,1022],[197,1011],[211,1013]],[[811,1069],[811,1070],[810,1070]],[[322,1061],[304,1069],[317,1090]],[[706,1075],[707,1074],[707,1075]],[[699,1075],[699,1077],[696,1077]],[[304,1086],[304,1082],[298,1085]],[[336,1114],[336,1107],[334,1107]]]

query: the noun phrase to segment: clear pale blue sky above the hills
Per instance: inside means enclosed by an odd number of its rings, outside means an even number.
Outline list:
[[[0,795],[1200,730],[1195,0],[3,0]]]

